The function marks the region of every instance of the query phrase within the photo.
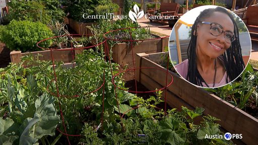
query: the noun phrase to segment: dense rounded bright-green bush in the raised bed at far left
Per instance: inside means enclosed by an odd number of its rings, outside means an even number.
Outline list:
[[[52,36],[52,31],[41,22],[13,20],[3,31],[1,41],[11,50],[27,52],[40,50],[36,43]],[[47,47],[49,45],[50,41],[46,41],[41,46]]]

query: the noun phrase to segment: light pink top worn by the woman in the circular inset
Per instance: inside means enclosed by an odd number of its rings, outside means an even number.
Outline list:
[[[177,73],[186,80],[186,76],[188,72],[188,59],[175,65],[174,68],[176,69]],[[220,87],[220,86],[226,85],[227,84],[226,79],[227,79],[227,73],[225,72],[223,78],[220,80],[220,83],[215,84],[214,87]],[[203,83],[203,86],[204,87],[209,86],[210,88],[212,88],[213,84],[208,84],[208,86],[206,86],[205,83]]]

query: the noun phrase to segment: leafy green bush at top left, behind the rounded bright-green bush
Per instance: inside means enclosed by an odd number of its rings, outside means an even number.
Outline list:
[[[32,22],[40,21],[48,24],[51,20],[63,21],[64,12],[60,8],[60,2],[54,1],[11,1],[9,20],[27,20]]]

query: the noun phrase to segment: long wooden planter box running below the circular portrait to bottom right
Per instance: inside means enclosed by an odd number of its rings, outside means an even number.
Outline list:
[[[165,69],[156,62],[160,61],[162,53],[136,55],[137,67],[157,67]],[[257,144],[258,142],[258,119],[252,117],[246,112],[236,108],[230,103],[222,100],[216,95],[209,94],[207,91],[195,87],[178,75],[172,73],[174,81],[168,87],[167,103],[178,109],[186,106],[189,109],[195,107],[205,108],[205,115],[212,115],[219,118],[225,132],[242,134],[241,140],[234,139],[237,144]],[[149,90],[155,90],[157,87],[165,86],[166,74],[160,70],[141,69],[137,71],[137,80]],[[169,82],[170,80],[168,80]]]

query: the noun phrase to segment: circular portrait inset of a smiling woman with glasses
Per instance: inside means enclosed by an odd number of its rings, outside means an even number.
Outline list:
[[[204,88],[221,87],[238,78],[250,51],[250,35],[243,21],[218,6],[185,13],[169,39],[169,56],[177,73]]]

